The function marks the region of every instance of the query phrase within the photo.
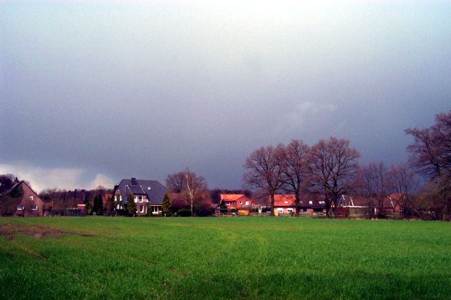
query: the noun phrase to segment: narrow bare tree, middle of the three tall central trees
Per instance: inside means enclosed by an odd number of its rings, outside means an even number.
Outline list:
[[[284,147],[282,157],[283,189],[296,197],[296,215],[299,215],[300,192],[307,188],[309,146],[303,141],[292,140]]]

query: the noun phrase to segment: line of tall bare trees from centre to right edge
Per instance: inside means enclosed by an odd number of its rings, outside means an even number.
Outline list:
[[[359,152],[350,141],[333,136],[312,146],[295,139],[288,145],[258,148],[244,164],[244,186],[269,195],[272,214],[276,193],[296,196],[297,215],[302,193],[321,193],[327,216],[341,195],[357,195],[368,200],[368,207],[376,208],[382,217],[384,200],[398,193],[402,195],[399,204],[404,217],[449,220],[451,112],[437,114],[431,127],[405,132],[414,136],[414,143],[407,146],[409,159],[389,167],[383,161],[360,166]],[[418,176],[426,180],[421,188]]]

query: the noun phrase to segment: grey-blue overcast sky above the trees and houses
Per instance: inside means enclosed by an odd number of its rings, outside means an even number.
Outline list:
[[[405,161],[403,130],[451,109],[450,16],[451,1],[0,1],[0,174],[40,191],[189,167],[241,188],[256,148],[330,136],[362,164]]]

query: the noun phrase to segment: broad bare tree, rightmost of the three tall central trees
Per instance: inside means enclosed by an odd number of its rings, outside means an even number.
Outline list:
[[[336,206],[339,197],[350,190],[359,157],[359,152],[350,148],[346,139],[322,139],[310,148],[312,184],[325,195],[327,216],[330,215],[331,204]]]

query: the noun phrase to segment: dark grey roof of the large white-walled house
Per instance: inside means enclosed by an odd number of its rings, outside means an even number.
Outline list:
[[[146,195],[150,204],[162,204],[164,194],[166,194],[166,187],[158,180],[122,179],[119,184],[114,186],[113,194],[118,189],[121,191],[123,203],[126,203],[128,195],[133,193],[133,195]]]

